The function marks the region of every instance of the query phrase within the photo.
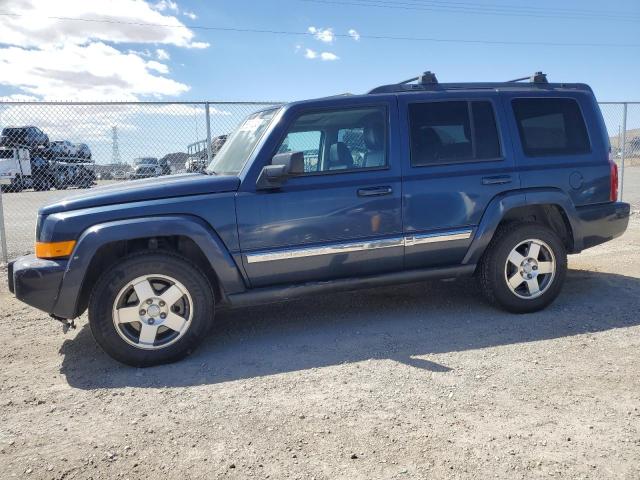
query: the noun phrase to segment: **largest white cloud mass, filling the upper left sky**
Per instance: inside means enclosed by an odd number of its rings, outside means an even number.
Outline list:
[[[167,50],[203,49],[175,16],[175,2],[142,0],[22,0],[0,16],[0,85],[43,100],[138,100],[180,95],[184,83],[167,78]],[[58,18],[108,22],[65,21]],[[148,26],[156,24],[159,26]],[[121,50],[125,43],[129,49]],[[138,48],[136,48],[138,47]],[[151,60],[154,56],[158,61]]]

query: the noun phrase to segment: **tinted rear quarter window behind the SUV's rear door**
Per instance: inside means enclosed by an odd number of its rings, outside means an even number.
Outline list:
[[[571,98],[516,98],[511,102],[525,155],[579,155],[591,145],[578,102]]]

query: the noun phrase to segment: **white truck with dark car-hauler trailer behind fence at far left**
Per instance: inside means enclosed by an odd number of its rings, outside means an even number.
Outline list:
[[[30,149],[0,147],[0,188],[20,192],[27,188],[89,188],[94,184],[94,164],[81,159],[46,159],[31,155]]]

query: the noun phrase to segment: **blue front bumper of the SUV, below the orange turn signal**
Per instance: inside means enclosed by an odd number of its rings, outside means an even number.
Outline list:
[[[27,255],[9,263],[9,290],[27,305],[53,313],[67,260]]]

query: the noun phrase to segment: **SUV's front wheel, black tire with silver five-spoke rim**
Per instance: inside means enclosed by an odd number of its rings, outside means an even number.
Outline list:
[[[151,282],[144,283],[147,279]],[[138,292],[153,300],[139,299]],[[190,354],[206,336],[214,306],[211,285],[195,265],[170,252],[143,252],[98,279],[89,299],[89,325],[112,358],[149,367]]]

